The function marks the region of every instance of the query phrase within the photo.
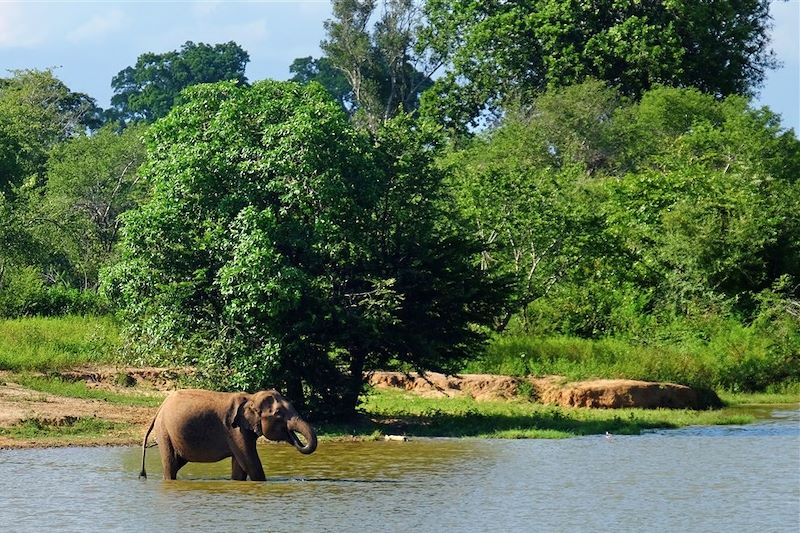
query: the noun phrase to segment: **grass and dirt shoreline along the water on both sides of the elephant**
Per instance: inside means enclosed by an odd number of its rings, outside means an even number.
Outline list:
[[[152,369],[151,369],[152,370]],[[137,369],[148,379],[119,379],[120,369],[79,372],[88,379],[0,373],[0,450],[140,446],[147,425],[175,381]],[[99,375],[105,376],[99,379]],[[154,378],[155,377],[155,378]],[[507,380],[507,376],[496,376]],[[71,379],[71,378],[70,378]],[[520,395],[477,399],[469,394],[373,387],[359,417],[315,424],[322,441],[398,437],[559,439],[584,435],[636,435],[647,429],[747,424],[753,406],[800,405],[798,395],[723,395],[717,410],[606,409],[547,405]],[[760,406],[760,407],[759,407]],[[758,409],[756,409],[758,410]]]

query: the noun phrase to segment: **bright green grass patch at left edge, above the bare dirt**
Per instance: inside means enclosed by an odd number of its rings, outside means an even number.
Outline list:
[[[0,370],[53,371],[117,358],[119,328],[108,317],[0,320]]]

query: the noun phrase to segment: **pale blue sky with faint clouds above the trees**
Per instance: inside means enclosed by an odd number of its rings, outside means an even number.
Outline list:
[[[754,105],[769,106],[800,134],[800,0],[773,0],[770,71]],[[140,54],[186,41],[235,41],[250,54],[250,81],[285,80],[297,57],[319,57],[329,0],[73,1],[0,0],[0,77],[10,69],[53,68],[71,90],[109,107],[111,78]]]

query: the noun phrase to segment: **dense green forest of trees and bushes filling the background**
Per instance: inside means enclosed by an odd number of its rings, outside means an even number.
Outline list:
[[[0,317],[114,315],[131,360],[323,415],[375,369],[800,382],[768,6],[334,0],[290,81],[186,42],[109,109],[11,72]]]

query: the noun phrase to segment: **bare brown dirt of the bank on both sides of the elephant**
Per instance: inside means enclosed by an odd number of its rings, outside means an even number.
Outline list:
[[[178,377],[187,372],[191,370],[108,367],[77,369],[61,374],[65,380],[82,381],[88,388],[115,395],[136,398],[152,396],[152,406],[38,392],[15,382],[15,375],[0,372],[0,428],[12,428],[24,422],[36,427],[31,437],[0,433],[0,448],[139,444],[159,400],[169,390],[177,388]],[[708,406],[706,400],[688,387],[631,380],[570,383],[557,376],[515,378],[489,374],[445,376],[428,373],[421,377],[400,372],[375,372],[369,376],[369,382],[375,387],[400,388],[425,396],[468,395],[477,400],[495,401],[523,396],[541,403],[573,407],[697,409]],[[86,420],[110,422],[114,426],[111,430],[101,429],[96,434],[77,437],[69,431],[59,431]]]

